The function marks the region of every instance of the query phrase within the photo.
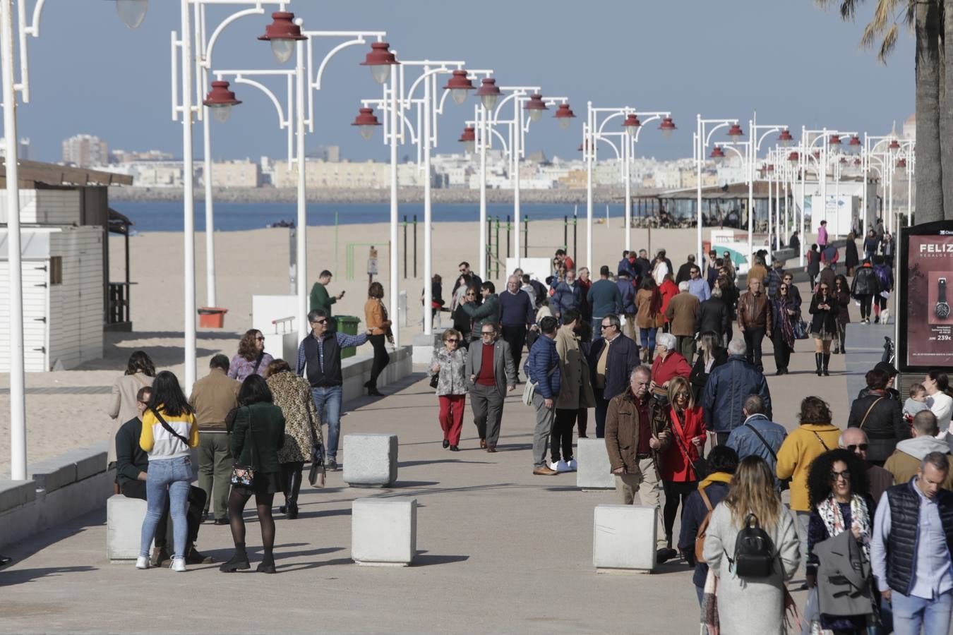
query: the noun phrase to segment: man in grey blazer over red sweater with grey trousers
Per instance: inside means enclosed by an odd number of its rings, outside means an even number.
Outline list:
[[[483,283],[487,285],[489,283]],[[517,387],[517,369],[506,340],[497,339],[497,325],[479,327],[480,339],[470,344],[464,373],[470,378],[470,407],[479,434],[479,446],[497,451],[503,420],[503,397]]]

